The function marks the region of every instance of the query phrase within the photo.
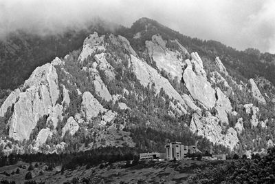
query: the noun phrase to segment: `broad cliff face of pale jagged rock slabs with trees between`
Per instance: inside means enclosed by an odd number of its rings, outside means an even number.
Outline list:
[[[189,54],[177,39],[165,40],[160,34],[146,40],[144,47],[144,52],[134,50],[125,37],[94,32],[78,55],[56,58],[36,68],[1,105],[0,117],[12,112],[6,124],[8,136],[23,141],[38,131],[34,150],[47,145],[52,149],[49,152],[56,152],[59,144],[68,146],[68,140],[81,135],[92,140],[83,150],[122,144],[133,147],[131,137],[121,137],[129,136],[125,127],[177,132],[184,125],[194,136],[234,150],[241,145],[238,133],[248,127],[243,112],[235,111],[239,106],[251,115],[251,127],[257,127],[259,108],[241,104],[239,96],[238,101],[234,99],[242,92],[267,103],[253,79],[250,87],[238,84],[218,56],[210,61],[213,70],[197,52]],[[263,128],[267,121],[261,121]],[[51,139],[59,142],[48,143]]]

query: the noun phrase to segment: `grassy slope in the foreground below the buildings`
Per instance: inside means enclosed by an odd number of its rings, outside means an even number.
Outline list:
[[[203,170],[206,165],[216,165],[221,161],[142,161],[137,165],[125,167],[126,162],[102,163],[96,167],[77,167],[76,170],[65,170],[61,173],[61,166],[46,171],[45,163],[37,163],[32,170],[32,180],[45,183],[186,183],[195,170]],[[0,167],[0,179],[24,183],[29,163],[19,162],[16,165]],[[36,165],[36,163],[32,163]],[[36,166],[37,166],[36,165]],[[19,168],[19,174],[13,174]],[[8,176],[10,175],[10,176]]]

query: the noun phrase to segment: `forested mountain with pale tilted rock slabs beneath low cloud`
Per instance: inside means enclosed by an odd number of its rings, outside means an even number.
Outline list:
[[[1,66],[15,72],[1,83],[12,85],[0,108],[4,154],[109,146],[163,152],[167,141],[181,141],[250,156],[273,146],[274,55],[191,39],[146,18],[112,33],[89,30],[82,47],[84,34],[75,32],[50,45],[11,41],[30,51],[23,60],[24,50],[1,52]],[[41,57],[34,43],[51,54]],[[64,48],[50,61],[52,44]]]

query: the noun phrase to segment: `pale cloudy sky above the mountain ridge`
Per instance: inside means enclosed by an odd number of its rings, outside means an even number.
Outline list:
[[[190,37],[275,54],[274,0],[0,0],[0,39],[14,30],[61,33],[93,17],[127,27],[148,17]]]

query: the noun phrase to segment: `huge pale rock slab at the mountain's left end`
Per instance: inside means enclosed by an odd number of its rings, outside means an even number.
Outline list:
[[[52,63],[42,65],[32,72],[14,104],[10,119],[10,137],[28,140],[37,121],[50,113],[59,96],[57,77]]]

